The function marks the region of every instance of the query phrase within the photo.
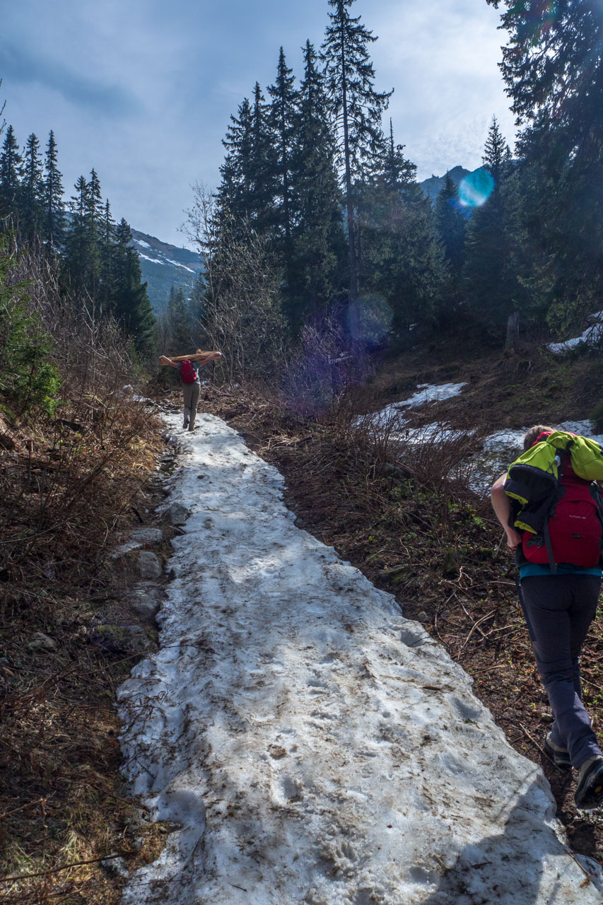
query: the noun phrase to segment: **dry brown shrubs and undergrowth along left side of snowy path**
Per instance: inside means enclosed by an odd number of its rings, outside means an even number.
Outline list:
[[[0,863],[27,875],[0,900],[106,905],[120,884],[101,858],[132,849],[113,700],[135,660],[108,660],[86,626],[120,595],[106,550],[154,468],[158,425],[116,325],[63,297],[41,254],[22,256],[14,280],[53,338],[62,399],[52,417],[0,417]],[[36,633],[53,649],[32,646]]]

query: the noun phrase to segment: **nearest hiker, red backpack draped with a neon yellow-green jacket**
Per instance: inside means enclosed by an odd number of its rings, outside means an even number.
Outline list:
[[[523,614],[554,719],[544,748],[558,767],[578,771],[575,802],[584,810],[603,804],[603,753],[579,672],[603,575],[601,480],[598,443],[538,424],[491,494],[507,546],[517,551]]]

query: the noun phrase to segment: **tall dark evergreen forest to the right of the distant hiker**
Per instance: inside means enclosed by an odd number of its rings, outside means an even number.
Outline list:
[[[273,84],[256,82],[232,114],[220,185],[196,186],[188,212],[206,264],[192,321],[239,358],[228,336],[243,331],[247,373],[317,331],[355,349],[434,331],[500,348],[578,327],[600,308],[603,274],[600,7],[503,4],[515,152],[493,118],[482,169],[461,186],[446,176],[431,205],[353,4],[329,0],[299,77],[281,48]]]

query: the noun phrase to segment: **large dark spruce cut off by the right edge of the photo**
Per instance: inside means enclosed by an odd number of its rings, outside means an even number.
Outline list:
[[[502,71],[522,126],[518,150],[531,276],[547,285],[548,320],[568,329],[603,295],[603,6],[593,0],[503,6]]]

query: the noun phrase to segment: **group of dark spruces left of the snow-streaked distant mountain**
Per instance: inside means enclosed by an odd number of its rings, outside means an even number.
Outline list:
[[[88,179],[80,176],[73,187],[65,201],[53,131],[43,153],[34,133],[20,148],[13,127],[5,128],[0,153],[0,362],[2,388],[16,395],[17,407],[20,398],[23,402],[22,397],[32,395],[30,360],[53,347],[56,305],[72,306],[78,319],[112,325],[132,361],[144,360],[155,346],[155,318],[129,224],[123,218],[115,223],[96,170]],[[52,305],[25,302],[26,296],[35,296],[31,286],[38,278],[42,294],[55,296]],[[30,309],[26,316],[19,305]],[[49,393],[54,389],[51,381]],[[40,399],[48,394],[33,395]]]

